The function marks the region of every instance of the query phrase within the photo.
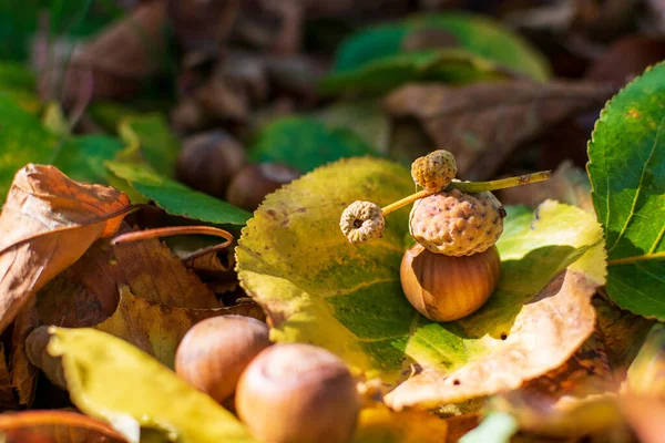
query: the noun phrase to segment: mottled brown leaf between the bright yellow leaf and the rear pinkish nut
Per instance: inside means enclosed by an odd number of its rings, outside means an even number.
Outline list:
[[[123,286],[117,310],[95,329],[126,340],[173,369],[175,350],[185,333],[206,318],[227,315],[265,319],[263,310],[254,302],[217,309],[175,308],[136,297]]]

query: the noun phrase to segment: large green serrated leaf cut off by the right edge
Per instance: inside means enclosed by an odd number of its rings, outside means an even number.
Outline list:
[[[605,230],[607,293],[665,320],[665,64],[612,99],[589,143],[589,177]]]

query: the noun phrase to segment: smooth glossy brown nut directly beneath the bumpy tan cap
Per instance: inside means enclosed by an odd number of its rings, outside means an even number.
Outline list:
[[[408,249],[400,267],[402,290],[409,302],[433,321],[453,321],[480,309],[501,275],[495,246],[484,253],[452,257],[422,245]]]

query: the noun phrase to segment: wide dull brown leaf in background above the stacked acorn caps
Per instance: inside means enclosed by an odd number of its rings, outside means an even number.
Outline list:
[[[395,117],[416,117],[463,179],[494,175],[512,151],[566,116],[602,106],[611,90],[593,83],[530,81],[468,86],[406,85],[386,97]]]

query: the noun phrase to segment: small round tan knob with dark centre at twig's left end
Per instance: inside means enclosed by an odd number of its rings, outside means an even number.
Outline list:
[[[383,235],[386,219],[371,202],[354,202],[341,213],[339,227],[350,243],[362,243]]]

